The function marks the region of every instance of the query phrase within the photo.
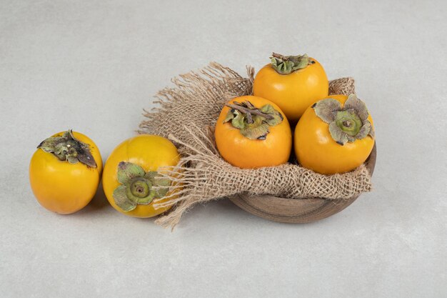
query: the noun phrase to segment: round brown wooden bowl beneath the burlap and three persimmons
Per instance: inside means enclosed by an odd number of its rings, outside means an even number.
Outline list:
[[[371,176],[376,166],[376,144],[366,160],[366,168]],[[273,196],[248,196],[239,194],[229,198],[231,202],[241,207],[248,213],[275,222],[288,222],[303,224],[325,219],[333,214],[341,212],[351,205],[357,197],[347,200],[332,201],[321,198],[286,199]]]

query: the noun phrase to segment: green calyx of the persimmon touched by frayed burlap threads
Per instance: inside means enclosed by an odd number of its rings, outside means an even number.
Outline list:
[[[145,172],[138,164],[120,162],[116,172],[119,187],[114,190],[115,204],[125,212],[137,205],[148,205],[156,198],[162,198],[169,190],[170,182],[158,172]]]

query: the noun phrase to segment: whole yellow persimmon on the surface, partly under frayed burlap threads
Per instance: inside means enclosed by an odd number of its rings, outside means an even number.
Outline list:
[[[159,177],[159,168],[176,166],[179,159],[176,146],[161,136],[140,134],[123,141],[104,166],[102,184],[109,203],[131,217],[154,217],[165,212],[170,207],[156,209],[153,204],[154,199],[171,194],[169,181]]]

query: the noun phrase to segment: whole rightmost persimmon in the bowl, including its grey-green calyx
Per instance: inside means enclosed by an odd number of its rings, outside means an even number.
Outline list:
[[[349,172],[374,146],[373,119],[355,94],[331,95],[310,106],[296,124],[296,159],[320,174]]]

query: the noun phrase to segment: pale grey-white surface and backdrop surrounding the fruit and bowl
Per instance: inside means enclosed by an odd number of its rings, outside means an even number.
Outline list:
[[[446,297],[446,1],[0,0],[1,297]],[[374,189],[313,224],[225,200],[171,233],[39,206],[28,164],[73,128],[103,158],[176,74],[306,52],[354,76],[376,124]]]

